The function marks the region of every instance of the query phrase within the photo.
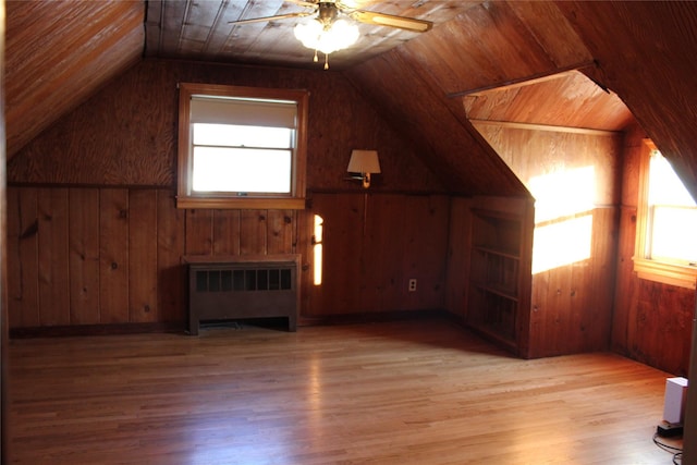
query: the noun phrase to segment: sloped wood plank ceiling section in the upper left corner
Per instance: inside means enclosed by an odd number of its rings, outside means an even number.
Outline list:
[[[142,1],[7,1],[8,158],[140,60]]]

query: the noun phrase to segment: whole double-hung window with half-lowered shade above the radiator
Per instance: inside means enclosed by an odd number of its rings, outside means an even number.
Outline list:
[[[307,93],[180,84],[179,208],[305,208]]]

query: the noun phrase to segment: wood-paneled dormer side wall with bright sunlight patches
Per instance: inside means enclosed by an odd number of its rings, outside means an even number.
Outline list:
[[[602,351],[609,347],[614,292],[614,257],[617,232],[617,201],[622,136],[574,134],[476,125],[536,198],[536,241],[538,254],[551,243],[565,243],[558,235],[542,243],[540,228],[590,216],[590,256],[578,261],[543,269],[533,276],[529,356]],[[574,172],[592,173],[578,189],[567,182]],[[557,181],[557,188],[538,187],[542,178]],[[583,198],[578,198],[583,195]],[[543,210],[553,218],[542,218]],[[578,205],[588,206],[577,211]],[[575,244],[567,244],[575,247]],[[578,245],[579,246],[579,245]],[[535,265],[534,265],[535,271]]]

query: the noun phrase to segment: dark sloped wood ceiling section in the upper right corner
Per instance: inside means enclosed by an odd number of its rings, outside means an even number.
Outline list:
[[[697,2],[559,1],[612,89],[697,199]]]

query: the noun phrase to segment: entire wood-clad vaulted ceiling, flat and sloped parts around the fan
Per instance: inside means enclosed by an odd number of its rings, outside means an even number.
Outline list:
[[[307,19],[230,23],[306,11],[303,3],[8,1],[9,157],[144,59],[319,69],[292,36]],[[697,192],[697,2],[351,4],[435,24],[423,34],[362,24],[358,42],[332,53],[328,72],[343,74],[413,135],[453,192],[490,193],[492,173],[496,194],[524,193],[469,119],[621,131],[632,120],[627,108]],[[550,78],[558,73],[565,74]],[[492,88],[503,90],[486,93]],[[554,110],[540,110],[541,100]]]

